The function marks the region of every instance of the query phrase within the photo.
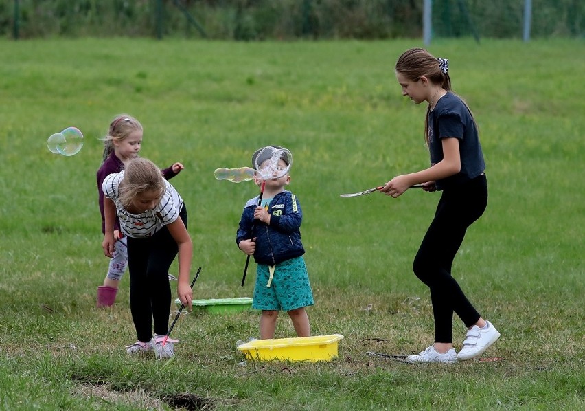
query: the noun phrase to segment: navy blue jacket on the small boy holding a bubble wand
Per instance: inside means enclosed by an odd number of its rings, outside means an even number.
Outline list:
[[[268,206],[270,225],[254,220],[258,197],[246,203],[236,234],[236,244],[256,238],[254,260],[258,264],[275,265],[305,254],[299,231],[303,221],[301,205],[290,191],[274,196]]]

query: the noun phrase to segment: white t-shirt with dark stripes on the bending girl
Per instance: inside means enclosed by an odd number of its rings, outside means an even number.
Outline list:
[[[153,210],[141,214],[132,214],[126,211],[118,198],[118,187],[122,179],[124,179],[124,171],[108,175],[104,179],[102,190],[104,195],[115,203],[120,220],[120,230],[124,235],[133,238],[147,238],[179,217],[179,211],[183,207],[183,199],[166,180],[164,180],[166,190],[163,197]]]

